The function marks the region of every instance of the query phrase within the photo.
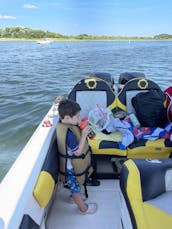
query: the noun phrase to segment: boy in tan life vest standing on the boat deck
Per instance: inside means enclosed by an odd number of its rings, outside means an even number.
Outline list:
[[[86,126],[80,130],[78,124],[81,108],[78,103],[68,99],[62,100],[58,111],[60,121],[57,124],[57,143],[60,155],[63,154],[60,157],[60,170],[70,188],[70,197],[78,206],[79,212],[93,214],[97,210],[97,204],[85,203],[80,193],[81,185],[91,173],[91,155],[87,144],[90,127]],[[67,171],[63,171],[64,168],[67,168]]]

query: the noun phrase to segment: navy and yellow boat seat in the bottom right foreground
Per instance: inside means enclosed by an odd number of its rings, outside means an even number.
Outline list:
[[[172,159],[127,160],[120,187],[134,229],[172,227]]]

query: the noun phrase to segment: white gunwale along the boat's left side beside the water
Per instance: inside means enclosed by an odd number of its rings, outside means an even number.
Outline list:
[[[33,219],[36,216],[34,220],[40,225],[44,209],[36,203],[32,192],[58,121],[52,112],[53,106],[1,183],[0,228],[18,228],[23,213],[32,215]],[[46,126],[47,122],[51,125]]]

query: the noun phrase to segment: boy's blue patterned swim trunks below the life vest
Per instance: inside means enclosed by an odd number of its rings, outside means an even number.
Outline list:
[[[67,184],[70,187],[70,193],[75,194],[75,193],[80,193],[81,188],[76,180],[76,177],[73,175],[74,170],[73,169],[67,169],[67,173],[70,174],[71,176],[67,176]]]

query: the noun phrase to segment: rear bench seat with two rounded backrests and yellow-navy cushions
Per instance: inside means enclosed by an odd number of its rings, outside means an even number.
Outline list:
[[[89,111],[94,109],[96,104],[99,104],[102,108],[108,107],[112,113],[117,111],[133,112],[131,99],[137,93],[148,90],[161,89],[151,80],[136,78],[128,81],[119,95],[115,97],[115,94],[104,80],[89,77],[80,80],[69,93],[68,98],[80,104],[82,118],[88,116]],[[165,139],[155,141],[140,139],[134,141],[125,150],[120,149],[119,141],[118,132],[110,135],[96,132],[96,138],[89,140],[89,145],[93,154],[107,154],[127,158],[168,158],[172,153],[172,142]]]

